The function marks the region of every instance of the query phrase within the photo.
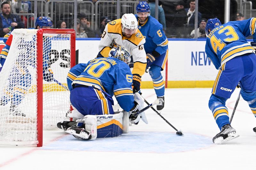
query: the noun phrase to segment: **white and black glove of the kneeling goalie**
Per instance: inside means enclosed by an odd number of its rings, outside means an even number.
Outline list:
[[[144,112],[140,113],[137,116],[134,116],[136,112],[138,112],[143,108],[144,108],[144,99],[138,92],[136,92],[134,94],[134,107],[129,112],[129,118],[132,124],[138,124],[140,119],[146,124],[148,124],[148,120]]]

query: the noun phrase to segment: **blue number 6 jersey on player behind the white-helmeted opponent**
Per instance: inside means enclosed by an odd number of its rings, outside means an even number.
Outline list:
[[[138,15],[135,15],[135,17],[138,19]],[[147,54],[155,50],[161,55],[167,51],[168,40],[163,32],[162,24],[156,18],[148,16],[146,23],[141,26],[139,25],[138,28],[146,39],[144,48]]]

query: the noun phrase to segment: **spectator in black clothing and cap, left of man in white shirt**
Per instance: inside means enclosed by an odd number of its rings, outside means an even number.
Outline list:
[[[189,35],[186,33],[185,25],[187,24],[188,16],[184,9],[185,2],[181,0],[173,4],[175,5],[176,13],[174,14],[171,29],[169,30],[177,38],[187,38]]]

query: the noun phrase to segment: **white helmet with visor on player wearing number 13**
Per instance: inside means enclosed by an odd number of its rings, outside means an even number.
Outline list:
[[[138,30],[138,21],[133,14],[124,14],[121,18],[122,32],[133,34]]]

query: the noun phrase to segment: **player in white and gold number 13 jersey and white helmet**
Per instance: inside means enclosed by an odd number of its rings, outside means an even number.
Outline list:
[[[147,59],[144,49],[145,38],[138,29],[138,21],[134,14],[124,14],[121,19],[116,19],[107,24],[99,44],[97,57],[108,57],[109,51],[115,46],[124,46],[133,58],[132,77],[127,76],[132,82],[133,93],[140,91],[141,76],[145,73]],[[125,90],[125,89],[124,89]]]

